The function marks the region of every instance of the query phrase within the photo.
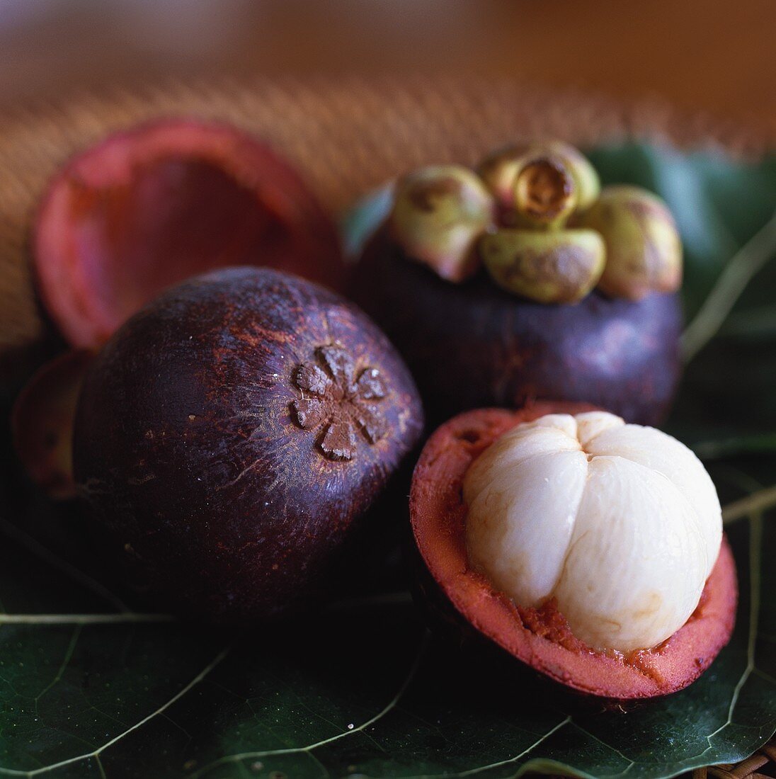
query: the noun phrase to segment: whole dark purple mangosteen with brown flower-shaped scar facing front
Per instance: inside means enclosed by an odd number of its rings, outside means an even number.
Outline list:
[[[275,270],[219,270],[108,341],[76,412],[76,481],[165,606],[249,622],[314,592],[422,425],[358,308]]]

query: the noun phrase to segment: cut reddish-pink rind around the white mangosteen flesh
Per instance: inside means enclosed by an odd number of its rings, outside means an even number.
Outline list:
[[[579,693],[609,701],[666,695],[697,679],[730,639],[738,589],[726,538],[690,619],[657,647],[628,655],[594,650],[573,635],[552,603],[539,609],[521,607],[468,566],[462,485],[471,462],[522,422],[590,410],[580,404],[541,402],[519,411],[478,409],[433,433],[415,467],[410,495],[414,541],[430,574],[423,576],[423,595],[442,601],[432,609],[446,619],[448,633],[454,611],[479,635]]]

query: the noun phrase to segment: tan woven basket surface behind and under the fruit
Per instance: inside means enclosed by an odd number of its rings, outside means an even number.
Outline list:
[[[633,136],[668,139],[753,157],[774,140],[654,101],[623,105],[473,79],[168,82],[19,109],[0,117],[0,375],[7,370],[4,358],[34,347],[46,332],[27,241],[49,178],[106,133],[165,115],[224,120],[263,137],[335,211],[412,167],[472,164],[496,146],[535,136],[580,146]],[[763,771],[776,776],[776,741],[738,766],[700,769],[693,779],[743,779]]]

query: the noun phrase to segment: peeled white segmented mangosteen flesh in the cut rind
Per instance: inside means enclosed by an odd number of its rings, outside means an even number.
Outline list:
[[[597,649],[654,647],[687,621],[722,519],[700,460],[613,414],[548,414],[503,435],[464,479],[469,561],[516,603],[555,598]]]

